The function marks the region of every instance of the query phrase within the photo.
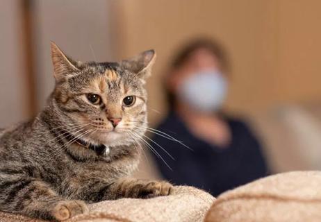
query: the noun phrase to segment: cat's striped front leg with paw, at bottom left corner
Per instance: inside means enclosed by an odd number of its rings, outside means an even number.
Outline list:
[[[57,221],[88,212],[83,201],[65,200],[42,181],[19,176],[6,179],[0,180],[1,211]]]

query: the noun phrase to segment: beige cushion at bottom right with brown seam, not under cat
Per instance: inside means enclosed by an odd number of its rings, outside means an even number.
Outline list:
[[[295,171],[256,180],[221,194],[206,222],[320,221],[321,172]]]

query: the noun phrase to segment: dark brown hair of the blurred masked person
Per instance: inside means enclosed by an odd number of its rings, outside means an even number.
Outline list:
[[[174,58],[172,59],[169,71],[171,76],[165,77],[165,90],[170,110],[174,108],[174,105],[176,103],[176,95],[168,87],[167,78],[171,78],[172,70],[182,67],[185,64],[185,62],[187,62],[188,58],[190,58],[192,53],[195,53],[195,51],[199,49],[206,49],[210,51],[213,54],[213,56],[215,56],[217,60],[220,62],[220,67],[222,71],[229,71],[230,69],[227,55],[219,42],[207,38],[198,38],[196,40],[188,42],[185,46],[181,47],[178,53],[176,53],[176,56],[174,56]]]

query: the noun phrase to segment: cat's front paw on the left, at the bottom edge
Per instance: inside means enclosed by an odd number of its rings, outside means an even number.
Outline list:
[[[88,207],[81,200],[65,200],[60,201],[53,208],[52,216],[57,221],[65,221],[78,214],[88,212]]]

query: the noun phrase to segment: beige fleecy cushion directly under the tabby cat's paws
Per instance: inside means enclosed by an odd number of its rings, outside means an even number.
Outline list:
[[[178,186],[170,196],[150,199],[123,198],[89,205],[90,213],[74,216],[67,222],[115,221],[204,221],[213,196],[194,187]],[[1,222],[40,222],[26,216],[0,212]]]

